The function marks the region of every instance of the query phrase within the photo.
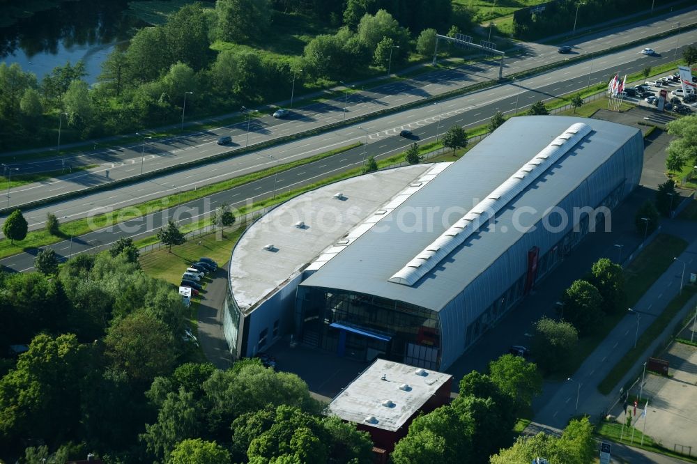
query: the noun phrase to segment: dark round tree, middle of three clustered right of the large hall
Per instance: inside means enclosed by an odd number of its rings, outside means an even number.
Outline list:
[[[564,318],[576,327],[579,334],[590,334],[600,327],[603,318],[601,309],[603,298],[590,282],[574,281],[566,289],[562,304],[564,304]]]

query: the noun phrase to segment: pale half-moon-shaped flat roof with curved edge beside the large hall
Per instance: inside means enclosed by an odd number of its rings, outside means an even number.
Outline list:
[[[431,169],[433,164],[417,164],[348,178],[306,192],[263,215],[240,237],[230,261],[229,282],[240,310],[253,310]],[[342,199],[334,197],[339,192]],[[302,227],[296,225],[299,222]],[[264,249],[266,245],[273,249]]]

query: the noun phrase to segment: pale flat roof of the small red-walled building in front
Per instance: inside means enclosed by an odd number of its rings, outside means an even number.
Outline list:
[[[376,359],[329,403],[327,412],[345,421],[397,431],[450,378],[450,374]]]

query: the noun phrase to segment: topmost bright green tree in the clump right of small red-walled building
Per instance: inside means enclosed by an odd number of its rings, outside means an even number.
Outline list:
[[[507,354],[489,362],[489,377],[511,397],[519,413],[530,408],[535,396],[542,393],[542,375],[537,365],[520,356]]]

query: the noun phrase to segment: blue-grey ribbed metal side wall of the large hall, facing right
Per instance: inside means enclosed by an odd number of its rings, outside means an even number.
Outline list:
[[[493,302],[502,297],[510,286],[526,274],[528,251],[532,247],[539,247],[539,256],[544,256],[576,226],[579,217],[577,215],[574,221],[574,210],[599,206],[615,188],[621,185],[623,186],[620,201],[624,199],[638,185],[642,164],[643,138],[641,132],[636,132],[588,178],[581,180],[576,189],[558,201],[556,212],[544,215],[535,223],[535,230],[529,230],[523,234],[512,247],[500,250],[498,258],[439,311],[438,317],[441,325],[441,365],[439,369],[447,369],[464,353],[465,347],[470,343],[466,340],[468,325],[481,316]],[[565,214],[569,218],[569,222],[563,227],[553,218],[553,216],[560,214]],[[546,227],[545,223],[551,224],[553,227]],[[496,226],[497,224],[494,222],[493,227]],[[482,232],[489,232],[491,227],[491,224],[485,226],[482,228]],[[603,229],[598,230],[602,231]],[[472,240],[464,246],[475,243],[476,240]],[[476,249],[476,247],[472,247],[470,251],[475,255],[485,255],[491,252],[487,249],[478,249],[475,252]],[[477,256],[470,257],[477,258]]]

